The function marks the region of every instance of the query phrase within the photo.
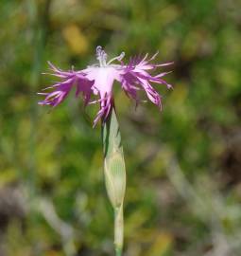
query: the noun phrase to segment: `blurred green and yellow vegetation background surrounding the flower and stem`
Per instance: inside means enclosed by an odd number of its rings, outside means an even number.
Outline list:
[[[36,95],[62,69],[160,51],[160,114],[116,86],[126,155],[126,256],[239,256],[241,2],[1,0],[0,255],[113,255],[97,106]],[[160,89],[159,89],[160,88]]]

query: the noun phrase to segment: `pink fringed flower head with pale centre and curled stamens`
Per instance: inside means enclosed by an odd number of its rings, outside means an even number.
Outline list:
[[[135,57],[129,60],[129,64],[124,64],[122,59],[125,53],[112,58],[107,62],[107,54],[101,46],[96,47],[96,58],[99,64],[88,66],[79,71],[62,71],[53,64],[50,69],[54,75],[60,78],[60,82],[56,82],[50,87],[43,89],[44,92],[39,93],[45,96],[39,104],[51,105],[53,107],[60,104],[72,89],[76,90],[76,97],[82,95],[85,105],[99,102],[100,110],[96,114],[94,126],[99,119],[107,119],[113,104],[112,86],[113,82],[120,83],[122,89],[127,96],[138,103],[138,91],[144,90],[149,101],[152,101],[160,109],[162,109],[162,98],[159,93],[152,87],[150,82],[164,84],[168,89],[172,88],[170,84],[163,80],[164,75],[169,72],[159,73],[151,76],[149,71],[167,64],[150,64],[157,54],[147,60],[148,54],[144,58]],[[114,61],[119,64],[112,64]],[[50,92],[47,90],[50,89]],[[91,101],[91,97],[95,95],[97,99]]]

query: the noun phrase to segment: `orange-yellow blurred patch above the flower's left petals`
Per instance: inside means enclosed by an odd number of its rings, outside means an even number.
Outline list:
[[[82,55],[88,50],[89,44],[87,37],[77,25],[72,24],[64,27],[62,35],[73,53]]]

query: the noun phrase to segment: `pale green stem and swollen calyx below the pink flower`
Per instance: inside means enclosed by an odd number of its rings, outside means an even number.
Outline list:
[[[113,107],[108,119],[103,122],[102,140],[106,189],[114,210],[115,255],[121,256],[124,236],[123,202],[126,191],[126,168],[119,124]]]

